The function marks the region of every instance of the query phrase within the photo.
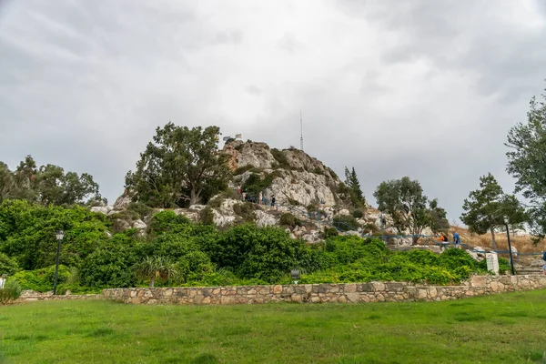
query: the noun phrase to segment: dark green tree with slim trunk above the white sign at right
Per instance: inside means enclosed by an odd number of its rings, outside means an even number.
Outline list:
[[[470,191],[462,208],[464,212],[460,215],[460,220],[471,232],[485,234],[490,231],[493,248],[497,248],[495,227],[504,226],[505,216],[510,217],[511,224],[525,220],[517,198],[505,195],[497,179],[490,173],[480,177],[480,188]]]

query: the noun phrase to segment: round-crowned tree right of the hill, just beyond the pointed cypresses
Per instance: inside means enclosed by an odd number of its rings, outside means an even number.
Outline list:
[[[425,227],[442,229],[447,224],[445,210],[438,206],[438,201],[429,202],[419,181],[410,177],[381,182],[373,196],[379,211],[389,214],[400,235],[410,231],[414,244]]]

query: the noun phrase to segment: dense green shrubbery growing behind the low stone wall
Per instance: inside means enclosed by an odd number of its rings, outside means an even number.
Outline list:
[[[85,207],[6,200],[0,204],[0,272],[25,289],[51,290],[56,229],[66,231],[61,292],[134,287],[150,278],[164,286],[288,283],[292,268],[299,268],[307,283],[385,279],[449,284],[485,271],[484,263],[459,249],[441,255],[393,253],[380,240],[346,236],[309,246],[281,227],[244,224],[220,231],[171,210],[151,217],[144,235],[127,229],[111,236],[112,226],[112,217]]]

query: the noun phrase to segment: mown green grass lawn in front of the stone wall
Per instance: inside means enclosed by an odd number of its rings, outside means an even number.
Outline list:
[[[546,363],[546,290],[450,302],[0,307],[0,363]]]

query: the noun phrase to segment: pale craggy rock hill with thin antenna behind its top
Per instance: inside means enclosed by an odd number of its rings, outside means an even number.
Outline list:
[[[309,242],[322,238],[324,228],[332,227],[336,216],[356,217],[352,231],[345,228],[348,234],[378,231],[377,210],[352,206],[347,187],[336,173],[304,151],[278,150],[265,143],[231,140],[223,152],[229,156],[228,166],[233,172],[229,190],[212,197],[207,205],[177,208],[174,210],[177,214],[194,221],[211,217],[218,227],[248,221],[262,227],[282,225],[295,238]],[[238,194],[238,187],[244,192],[244,200],[243,195]],[[262,199],[258,201],[260,193]],[[272,197],[276,198],[277,207],[270,207]],[[118,229],[134,227],[144,234],[153,213],[161,209],[137,216],[130,211],[134,209],[132,205],[131,195],[126,192],[113,206],[92,207],[92,210],[118,217],[115,224]]]

